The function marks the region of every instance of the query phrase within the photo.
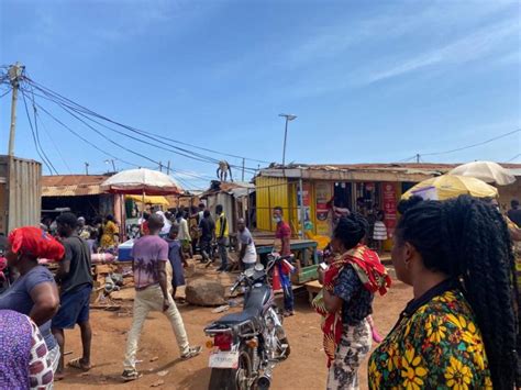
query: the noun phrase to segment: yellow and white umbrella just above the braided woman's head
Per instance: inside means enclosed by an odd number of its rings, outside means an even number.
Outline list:
[[[469,194],[476,198],[497,198],[498,189],[473,177],[443,175],[419,182],[403,193],[401,199],[419,196],[423,199],[445,200],[461,194]]]

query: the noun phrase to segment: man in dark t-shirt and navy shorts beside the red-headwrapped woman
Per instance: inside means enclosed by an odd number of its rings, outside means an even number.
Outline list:
[[[76,235],[77,218],[73,213],[64,213],[56,220],[62,244],[65,247],[65,257],[59,261],[56,282],[60,287],[60,307],[53,319],[52,331],[59,345],[62,357],[57,376],[64,369],[64,330],[71,330],[76,324],[81,331],[82,356],[70,360],[67,366],[88,371],[90,364],[90,292],[92,291],[92,272],[90,250],[87,243]]]

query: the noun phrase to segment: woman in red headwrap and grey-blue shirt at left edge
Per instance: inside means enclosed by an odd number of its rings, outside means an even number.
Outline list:
[[[32,226],[13,230],[8,241],[8,266],[16,268],[20,277],[0,296],[0,309],[29,315],[40,326],[56,369],[59,347],[51,333],[51,319],[58,310],[58,289],[48,269],[38,265],[38,258],[60,260],[65,249],[46,232]]]

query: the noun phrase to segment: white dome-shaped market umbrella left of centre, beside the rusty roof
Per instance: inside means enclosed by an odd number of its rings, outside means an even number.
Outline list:
[[[101,188],[112,193],[165,196],[182,192],[181,187],[168,175],[152,169],[123,170],[103,181]]]

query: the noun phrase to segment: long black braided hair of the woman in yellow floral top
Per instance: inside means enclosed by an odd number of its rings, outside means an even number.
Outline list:
[[[468,196],[447,201],[413,197],[399,204],[396,235],[419,252],[425,268],[462,281],[481,331],[495,389],[512,389],[518,368],[516,260],[502,215]],[[512,291],[513,285],[513,291]]]

